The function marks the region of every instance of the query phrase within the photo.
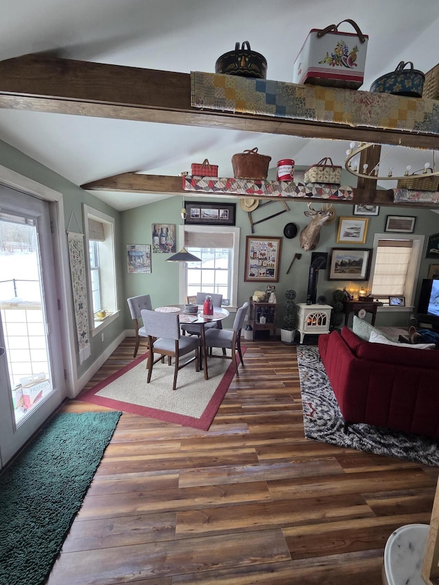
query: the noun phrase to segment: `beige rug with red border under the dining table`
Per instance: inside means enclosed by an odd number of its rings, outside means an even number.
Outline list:
[[[147,384],[146,357],[135,359],[80,394],[78,400],[185,427],[209,429],[235,375],[232,361],[208,359],[209,380],[204,380],[202,370],[195,372],[195,364],[190,363],[178,372],[177,387],[172,390],[174,365],[168,366],[166,359],[165,363],[156,363]]]

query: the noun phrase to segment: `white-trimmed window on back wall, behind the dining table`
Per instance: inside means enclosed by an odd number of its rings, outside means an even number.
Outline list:
[[[218,293],[236,307],[239,228],[185,226],[183,245],[202,261],[188,262],[181,267],[180,297],[186,300],[198,291]]]

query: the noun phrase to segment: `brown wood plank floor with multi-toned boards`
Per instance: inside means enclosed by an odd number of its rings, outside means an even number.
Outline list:
[[[209,431],[121,416],[47,585],[382,583],[388,536],[429,523],[438,468],[306,439],[295,348],[247,345]]]

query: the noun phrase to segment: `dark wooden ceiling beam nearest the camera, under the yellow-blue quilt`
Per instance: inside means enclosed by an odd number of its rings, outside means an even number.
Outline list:
[[[38,53],[0,61],[0,108],[439,149],[425,133],[192,108],[189,73]]]

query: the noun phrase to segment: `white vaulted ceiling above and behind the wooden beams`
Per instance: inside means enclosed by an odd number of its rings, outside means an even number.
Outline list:
[[[361,89],[367,91],[401,60],[424,72],[438,62],[438,0],[8,1],[0,20],[0,60],[44,51],[130,67],[213,72],[222,53],[248,40],[265,56],[268,79],[292,82],[294,59],[309,29],[346,18],[369,36]],[[347,24],[340,28],[352,30]],[[231,176],[233,154],[255,146],[272,156],[274,167],[281,158],[307,166],[323,156],[342,164],[347,147],[291,136],[20,110],[0,110],[0,139],[78,185],[128,171],[176,176],[206,157],[219,165],[220,176]],[[399,162],[410,163],[414,169],[431,159],[431,153],[408,154],[394,149],[389,165],[396,169]],[[93,194],[119,211],[163,197]]]

